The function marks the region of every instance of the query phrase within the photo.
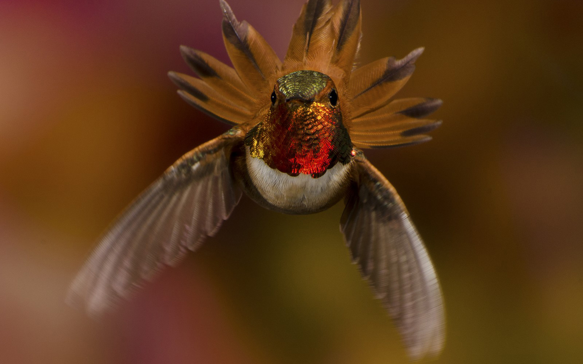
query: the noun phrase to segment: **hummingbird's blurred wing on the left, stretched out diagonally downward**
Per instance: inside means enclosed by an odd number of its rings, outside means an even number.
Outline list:
[[[99,239],[68,301],[99,314],[216,234],[241,198],[229,154],[243,136],[229,130],[182,156],[152,183]]]

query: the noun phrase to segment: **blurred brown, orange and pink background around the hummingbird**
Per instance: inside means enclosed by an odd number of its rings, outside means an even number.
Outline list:
[[[231,0],[280,57],[303,0]],[[368,151],[441,280],[437,363],[583,361],[583,2],[363,0],[360,62],[426,51],[399,97],[444,100],[433,141]],[[175,94],[180,44],[229,63],[218,1],[0,2],[0,362],[404,363],[350,264],[342,206],[241,200],[117,312],[64,303],[97,236],[228,129]]]

